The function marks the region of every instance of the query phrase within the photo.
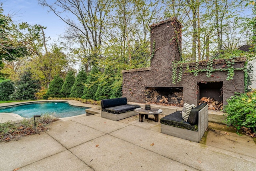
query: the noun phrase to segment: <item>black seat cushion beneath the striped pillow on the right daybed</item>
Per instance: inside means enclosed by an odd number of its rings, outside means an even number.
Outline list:
[[[162,117],[160,123],[164,125],[170,125],[173,127],[188,129],[191,131],[198,131],[198,125],[191,125],[188,122],[185,122],[181,116],[182,111],[176,111],[170,115]]]

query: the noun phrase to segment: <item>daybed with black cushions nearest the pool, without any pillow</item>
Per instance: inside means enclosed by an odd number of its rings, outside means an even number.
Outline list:
[[[134,109],[140,107],[139,105],[127,104],[126,97],[104,99],[101,101],[101,117],[118,121],[126,117],[137,115]]]

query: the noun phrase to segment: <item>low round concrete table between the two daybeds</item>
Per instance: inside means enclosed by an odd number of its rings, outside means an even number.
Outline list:
[[[143,117],[145,115],[145,119],[148,119],[148,115],[154,115],[155,122],[158,122],[159,120],[159,113],[162,113],[163,111],[161,109],[157,108],[151,108],[150,110],[146,110],[145,107],[140,107],[137,109],[134,109],[137,113],[139,113],[139,121],[143,122]]]

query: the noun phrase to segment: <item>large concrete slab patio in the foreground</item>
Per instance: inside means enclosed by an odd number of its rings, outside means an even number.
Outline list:
[[[39,135],[1,142],[0,170],[256,170],[254,140],[224,127],[209,123],[206,137],[195,143],[165,135],[160,122],[139,122],[138,115],[120,121],[80,115],[52,123]]]

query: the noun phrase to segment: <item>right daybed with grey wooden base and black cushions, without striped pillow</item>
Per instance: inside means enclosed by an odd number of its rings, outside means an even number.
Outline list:
[[[182,111],[176,111],[161,118],[160,123],[164,134],[199,142],[208,127],[208,104],[191,109],[187,121],[182,118]]]

